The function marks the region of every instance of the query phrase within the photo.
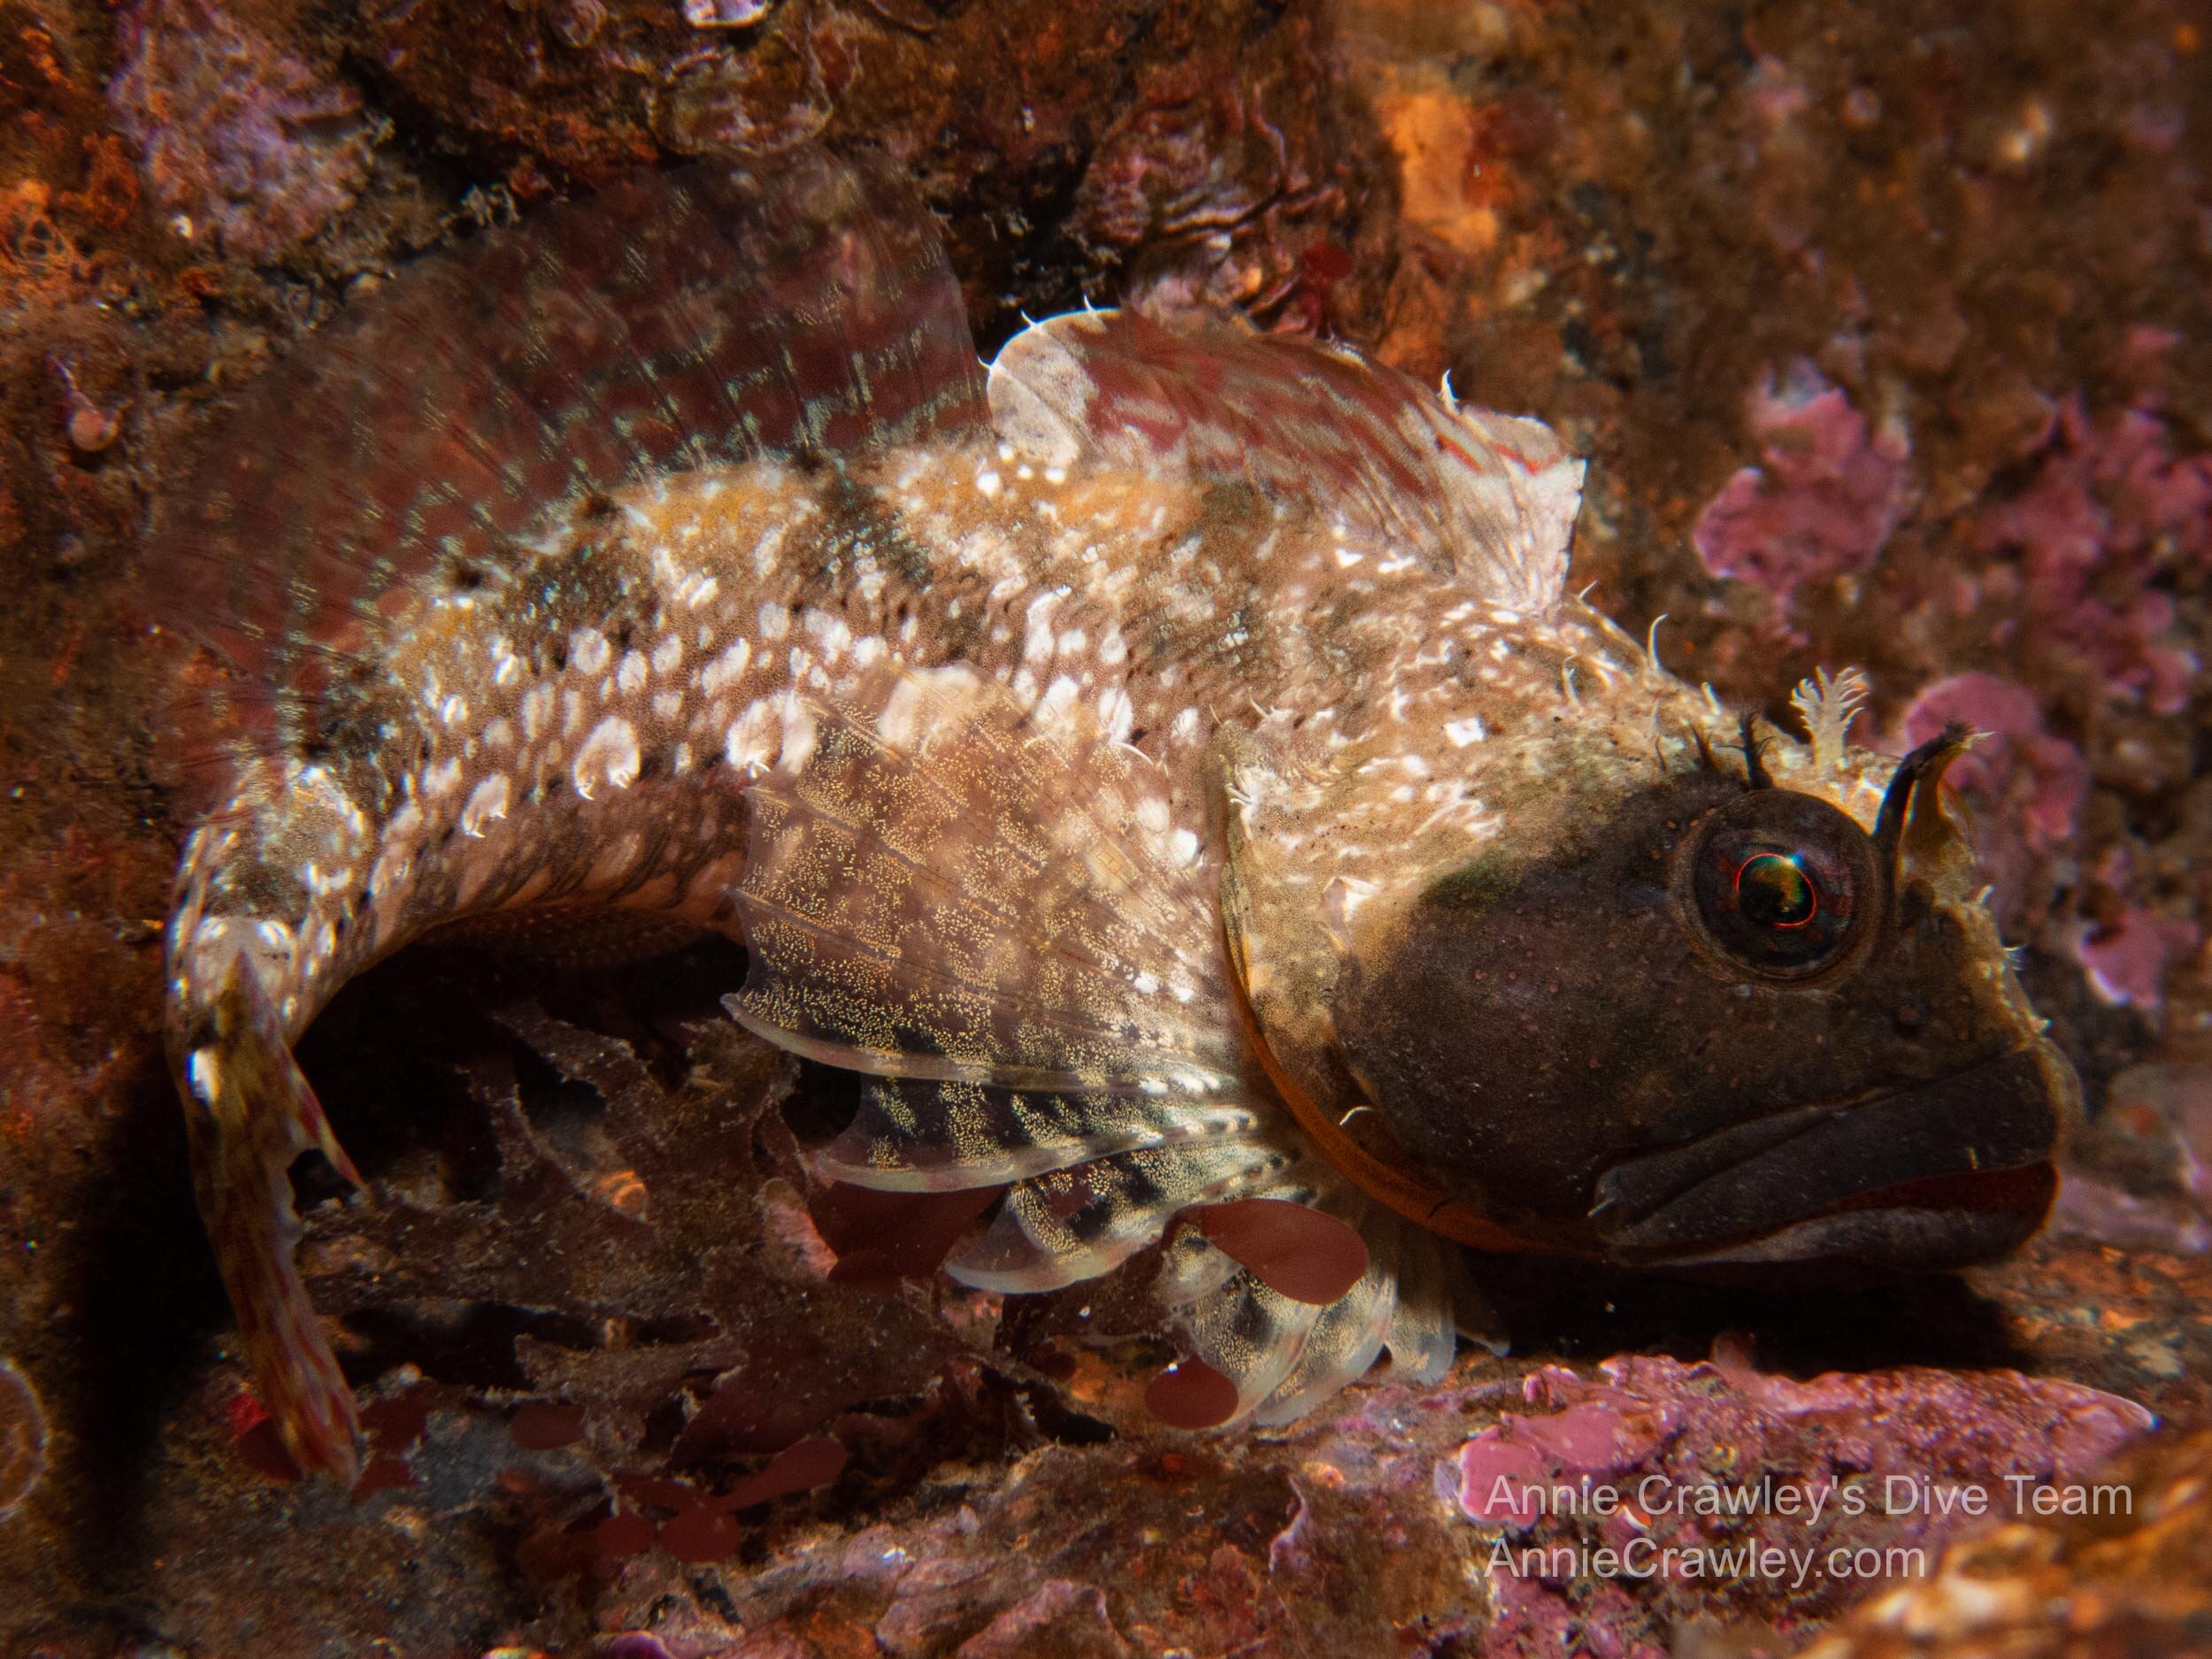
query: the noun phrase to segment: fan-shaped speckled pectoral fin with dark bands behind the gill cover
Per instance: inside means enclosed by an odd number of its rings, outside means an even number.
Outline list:
[[[1385,1340],[1420,1374],[1449,1360],[1440,1281],[1402,1279],[1396,1219],[1252,1075],[1214,867],[1144,830],[1166,783],[1141,754],[964,670],[814,703],[803,732],[748,794],[730,1009],[878,1079],[823,1175],[1004,1186],[945,1263],[998,1292],[1095,1279],[1186,1221],[1161,1301],[1214,1383],[1203,1411],[1170,1387],[1170,1422],[1296,1416]],[[1254,1203],[1281,1212],[1265,1248]],[[1210,1234],[1230,1212],[1245,1225]]]

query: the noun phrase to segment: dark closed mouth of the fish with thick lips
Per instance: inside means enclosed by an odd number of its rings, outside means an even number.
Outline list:
[[[1639,1267],[1927,1272],[2044,1223],[2079,1084],[2051,1044],[1953,1077],[1792,1106],[1597,1179],[1606,1256]]]

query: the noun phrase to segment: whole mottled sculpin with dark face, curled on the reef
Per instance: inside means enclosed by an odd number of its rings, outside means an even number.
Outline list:
[[[1082,312],[984,372],[880,161],[617,184],[250,385],[159,529],[217,787],[168,929],[261,1396],[356,1467],[292,1042],[465,918],[748,949],[869,1077],[825,1177],[1004,1188],[1000,1292],[1161,1243],[1183,1427],[1480,1329],[1462,1243],[1951,1267],[2075,1082],[1975,900],[1947,732],[1805,739],[1566,595],[1582,465],[1358,352]],[[403,1037],[403,1033],[396,1033]]]

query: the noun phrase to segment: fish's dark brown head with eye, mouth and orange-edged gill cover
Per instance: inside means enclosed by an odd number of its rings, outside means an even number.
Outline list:
[[[1776,774],[1750,741],[1741,768],[1703,737],[1690,765],[1553,745],[1469,821],[1338,834],[1358,876],[1316,865],[1310,790],[1303,880],[1232,834],[1256,1046],[1347,1175],[1469,1243],[1832,1276],[2000,1256],[2042,1225],[2079,1084],[1940,799],[1964,741]]]

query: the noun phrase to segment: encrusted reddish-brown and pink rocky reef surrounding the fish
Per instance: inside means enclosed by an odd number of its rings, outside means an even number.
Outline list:
[[[2208,64],[2188,0],[15,0],[0,1652],[2212,1646]],[[810,1183],[843,1084],[719,1018],[734,951],[414,951],[303,1048],[374,1458],[290,1482],[159,1055],[148,502],[416,252],[807,137],[916,173],[987,347],[1146,296],[1449,372],[1593,458],[1577,584],[1679,672],[1991,732],[1953,776],[2093,1110],[2053,1228],[1818,1298],[1495,1263],[1513,1356],[1172,1436],[1148,1261],[958,1292],[960,1203]]]

